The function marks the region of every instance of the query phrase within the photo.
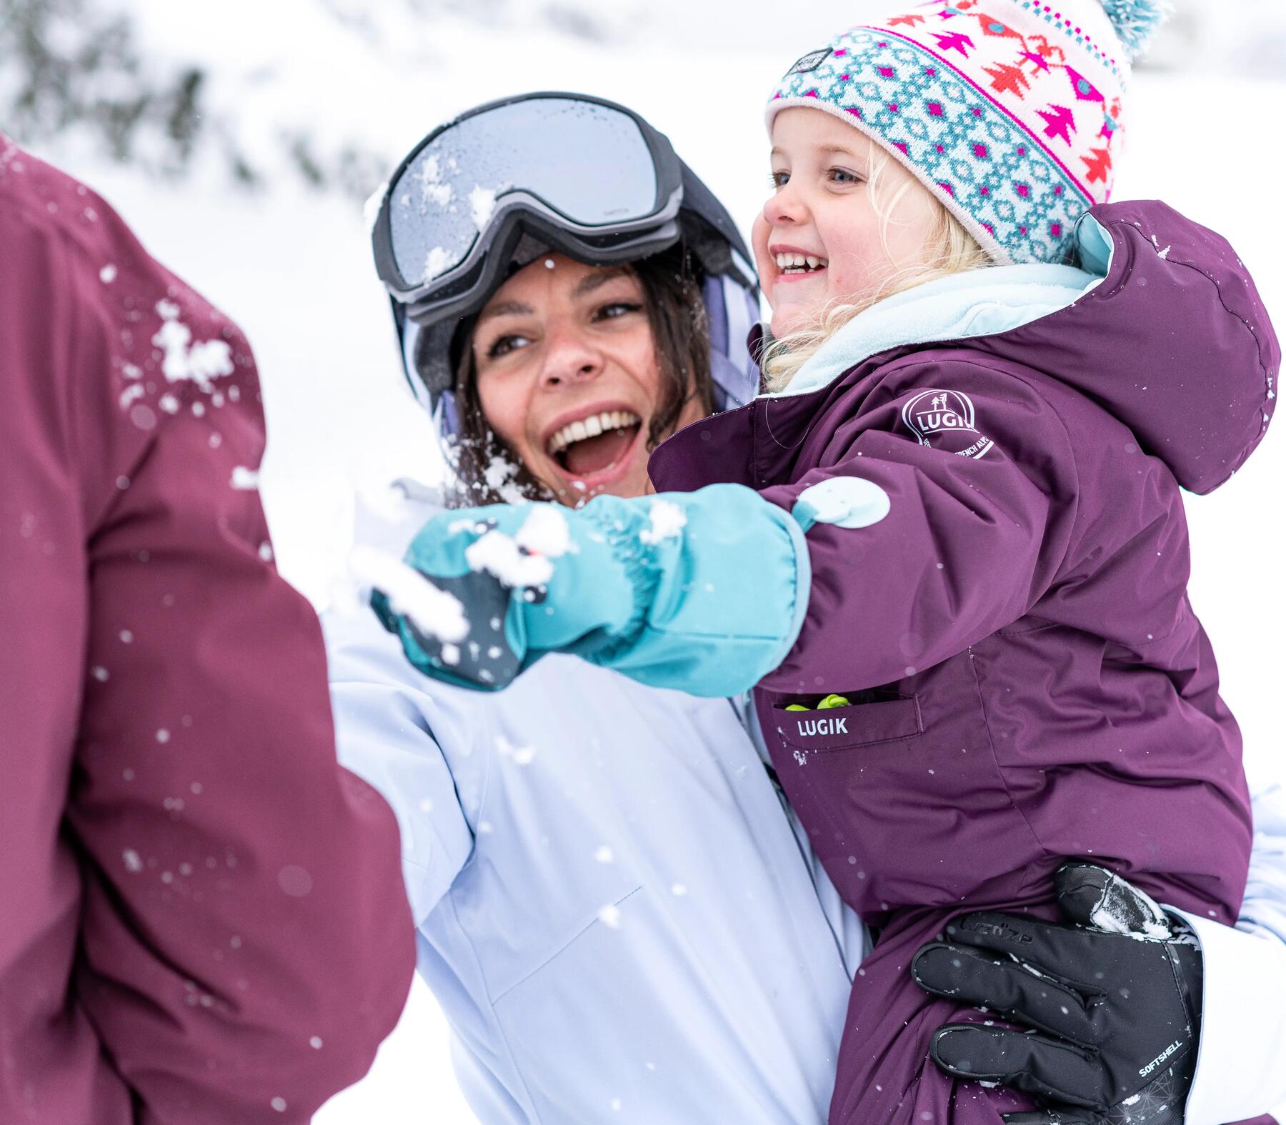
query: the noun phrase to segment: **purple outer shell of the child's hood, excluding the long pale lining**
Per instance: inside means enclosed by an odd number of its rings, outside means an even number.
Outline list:
[[[1276,406],[1281,348],[1254,282],[1223,238],[1155,201],[1093,208],[1078,243],[1098,284],[968,346],[1069,383],[1184,489],[1213,491]]]

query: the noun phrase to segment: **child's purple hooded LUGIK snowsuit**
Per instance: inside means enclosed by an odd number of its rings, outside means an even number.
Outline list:
[[[808,532],[802,633],[755,690],[813,846],[880,932],[832,1122],[963,1125],[1030,1104],[957,1089],[927,1061],[939,1025],[984,1018],[908,973],[962,910],[1053,917],[1069,856],[1226,923],[1241,903],[1241,741],[1186,593],[1179,486],[1209,492],[1255,449],[1281,354],[1222,238],[1160,203],[1093,213],[1111,267],[1069,307],[886,351],[652,458],[658,490],[736,482],[790,510],[854,476],[891,500],[872,526]],[[853,706],[784,710],[832,692]]]

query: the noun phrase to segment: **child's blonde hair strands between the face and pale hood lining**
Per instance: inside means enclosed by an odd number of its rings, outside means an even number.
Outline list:
[[[867,192],[876,215],[880,219],[880,242],[885,253],[889,253],[889,228],[892,225],[892,215],[907,192],[917,185],[917,181],[907,179],[887,199],[883,188],[885,172],[892,156],[881,152],[871,170],[871,179],[867,181]],[[931,197],[932,198],[932,197]],[[827,339],[835,336],[845,324],[853,320],[859,312],[864,312],[872,305],[891,297],[894,293],[903,293],[932,282],[936,278],[945,278],[950,274],[962,274],[966,270],[980,270],[992,265],[992,258],[983,249],[961,221],[950,213],[936,198],[936,221],[934,229],[925,242],[923,261],[905,266],[877,285],[872,293],[860,301],[845,301],[837,298],[824,306],[810,324],[788,333],[778,339],[773,339],[764,351],[763,370],[764,386],[768,391],[784,390],[791,379],[799,374],[800,368]]]

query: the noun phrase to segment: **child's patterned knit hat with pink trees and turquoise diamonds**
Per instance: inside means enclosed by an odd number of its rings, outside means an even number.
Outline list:
[[[998,262],[1062,262],[1106,203],[1129,60],[1164,0],[930,0],[801,58],[768,103],[833,113],[904,163]]]

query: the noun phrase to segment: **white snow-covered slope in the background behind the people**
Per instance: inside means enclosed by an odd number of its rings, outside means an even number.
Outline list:
[[[1246,3],[1264,26],[1281,27],[1278,0]],[[194,179],[184,183],[147,179],[75,139],[39,149],[99,189],[149,249],[246,329],[269,423],[261,499],[278,566],[318,606],[345,575],[358,489],[399,476],[432,481],[441,462],[428,418],[401,375],[388,301],[372,265],[369,221],[355,201],[316,194],[297,181],[280,140],[283,123],[309,123],[323,153],[354,139],[378,153],[368,184],[374,189],[431,127],[475,102],[571,82],[638,109],[666,132],[748,233],[765,192],[766,91],[791,62],[859,14],[858,5],[841,0],[796,6],[786,21],[777,0],[734,6],[572,0],[562,6],[603,27],[610,49],[550,31],[543,6],[521,0],[480,5],[486,14],[477,18],[466,5],[442,5],[433,21],[417,19],[414,5],[361,0],[225,0],[208,9],[129,0],[149,49],[210,67],[216,114],[235,120],[238,139],[270,186],[258,194],[234,190],[213,159],[198,161]],[[1226,6],[1201,18],[1218,24],[1217,53],[1231,55],[1236,21]],[[255,35],[247,36],[247,27]],[[1276,59],[1280,71],[1280,53]],[[714,72],[718,104],[694,102],[691,84],[657,81],[658,75]],[[1133,99],[1116,198],[1160,195],[1220,230],[1286,325],[1276,181],[1247,156],[1263,149],[1260,122],[1286,109],[1286,86],[1141,73]],[[1228,112],[1229,105],[1255,112]],[[1199,159],[1211,138],[1220,159]],[[0,166],[8,158],[0,154]],[[174,337],[176,370],[195,364],[208,375],[217,369],[216,355],[193,357],[189,343],[180,352]],[[516,492],[513,465],[498,459],[493,471],[489,482],[494,476],[495,487]],[[1219,657],[1253,782],[1286,780],[1286,762],[1276,753],[1277,649],[1286,609],[1269,581],[1283,473],[1286,444],[1269,435],[1214,496],[1186,498],[1192,600]],[[108,671],[95,667],[91,675],[105,681]],[[370,1075],[315,1120],[475,1120],[450,1075],[445,1022],[418,977]]]

